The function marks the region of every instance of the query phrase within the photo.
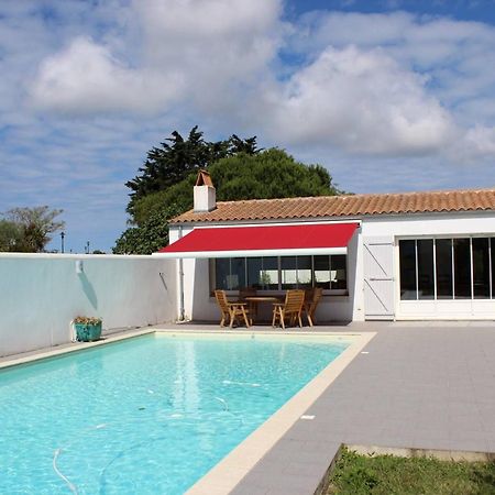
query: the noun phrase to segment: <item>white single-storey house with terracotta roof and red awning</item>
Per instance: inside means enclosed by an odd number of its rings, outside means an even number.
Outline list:
[[[179,315],[217,320],[215,288],[323,288],[319,321],[495,319],[495,189],[216,201],[198,175],[175,218]]]

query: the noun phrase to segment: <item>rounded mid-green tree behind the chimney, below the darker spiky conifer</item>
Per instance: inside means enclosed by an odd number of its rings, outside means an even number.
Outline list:
[[[255,154],[240,152],[210,165],[208,172],[219,201],[341,194],[321,165],[305,165],[277,148]],[[195,180],[196,172],[193,172],[167,189],[135,201],[138,227],[122,234],[113,252],[151,254],[166,245],[168,220],[193,207]]]

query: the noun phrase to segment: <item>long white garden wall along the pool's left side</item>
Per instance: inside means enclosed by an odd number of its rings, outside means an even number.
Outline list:
[[[173,321],[176,297],[172,260],[1,253],[0,355],[70,341],[78,315],[103,318],[103,331]]]

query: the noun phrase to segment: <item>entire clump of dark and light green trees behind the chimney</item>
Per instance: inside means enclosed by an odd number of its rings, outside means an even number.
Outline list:
[[[208,168],[218,201],[341,194],[321,165],[305,165],[278,148],[258,150],[256,138],[232,134],[207,142],[195,127],[184,139],[177,131],[153,147],[125,185],[131,228],[117,240],[113,253],[150,254],[167,244],[170,218],[193,208],[199,168]]]

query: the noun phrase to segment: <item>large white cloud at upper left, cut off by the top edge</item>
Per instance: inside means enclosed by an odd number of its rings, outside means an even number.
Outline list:
[[[129,28],[133,35],[77,37],[43,61],[33,102],[73,114],[160,114],[191,99],[200,108],[231,105],[265,76],[279,43],[280,8],[278,0],[135,1],[127,15],[138,23]],[[136,61],[122,55],[127,36],[140,46]]]

